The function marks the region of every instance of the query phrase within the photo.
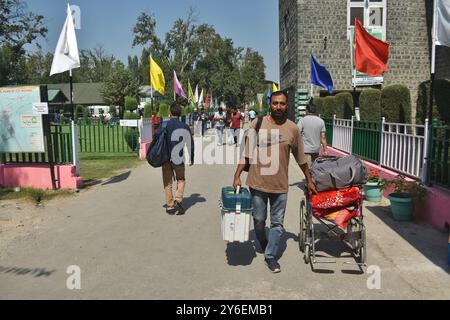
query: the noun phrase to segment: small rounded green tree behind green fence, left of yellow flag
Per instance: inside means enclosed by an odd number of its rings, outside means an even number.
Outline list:
[[[101,88],[101,94],[110,106],[119,106],[120,117],[123,117],[125,97],[139,98],[139,82],[134,79],[122,62],[117,61],[106,82]]]

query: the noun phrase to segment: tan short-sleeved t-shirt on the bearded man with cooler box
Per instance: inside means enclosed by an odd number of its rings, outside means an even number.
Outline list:
[[[257,120],[253,121],[251,128],[256,124]],[[247,185],[267,193],[288,193],[290,153],[298,164],[306,163],[300,129],[290,120],[279,126],[264,117],[257,139],[255,133],[250,130],[244,149],[244,157],[251,163]]]

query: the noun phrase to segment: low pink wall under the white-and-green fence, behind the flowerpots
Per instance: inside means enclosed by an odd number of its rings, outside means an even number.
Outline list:
[[[330,147],[328,148],[328,154],[334,156],[347,155],[342,151]],[[380,170],[380,176],[386,180],[393,180],[398,175],[397,172],[381,168],[367,161],[364,162],[369,170]],[[416,218],[426,221],[440,231],[448,231],[448,227],[450,226],[450,190],[439,187],[427,187],[427,189],[429,196],[424,203],[415,206],[414,215]],[[383,196],[388,197],[392,191],[392,188],[386,189]]]

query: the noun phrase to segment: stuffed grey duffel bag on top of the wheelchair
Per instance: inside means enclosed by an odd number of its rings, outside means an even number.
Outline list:
[[[318,158],[311,166],[318,192],[361,186],[367,183],[364,163],[355,156]]]

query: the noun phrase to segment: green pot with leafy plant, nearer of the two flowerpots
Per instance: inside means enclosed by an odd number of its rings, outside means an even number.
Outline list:
[[[424,201],[428,195],[427,189],[415,181],[407,181],[404,175],[398,175],[388,181],[385,187],[393,187],[389,195],[392,217],[397,221],[410,221],[413,218],[414,203]]]

